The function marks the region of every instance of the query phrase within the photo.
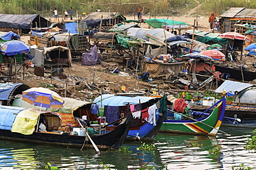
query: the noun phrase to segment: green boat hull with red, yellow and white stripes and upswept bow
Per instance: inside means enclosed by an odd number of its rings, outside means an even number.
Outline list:
[[[160,131],[216,136],[223,121],[225,106],[226,98],[223,97],[208,116],[188,118],[188,120],[164,120]]]

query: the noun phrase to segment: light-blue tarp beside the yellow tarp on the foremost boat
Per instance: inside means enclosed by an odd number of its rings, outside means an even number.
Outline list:
[[[0,129],[10,130],[17,114],[26,108],[0,106]]]

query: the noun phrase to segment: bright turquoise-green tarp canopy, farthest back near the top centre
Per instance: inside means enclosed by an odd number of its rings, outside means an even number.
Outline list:
[[[174,21],[170,19],[147,19],[144,22],[152,26],[152,28],[163,28],[163,25],[189,25],[182,21]]]

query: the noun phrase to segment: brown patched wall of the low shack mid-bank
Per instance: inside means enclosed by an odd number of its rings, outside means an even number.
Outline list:
[[[143,72],[149,72],[150,77],[157,78],[168,68],[178,75],[182,71],[184,63],[147,63],[146,61],[142,61],[141,65]]]

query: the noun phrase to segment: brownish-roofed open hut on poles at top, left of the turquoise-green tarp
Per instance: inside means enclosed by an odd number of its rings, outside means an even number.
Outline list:
[[[92,12],[82,22],[86,23],[87,28],[96,31],[109,30],[116,23],[121,23],[126,18],[119,12]]]

